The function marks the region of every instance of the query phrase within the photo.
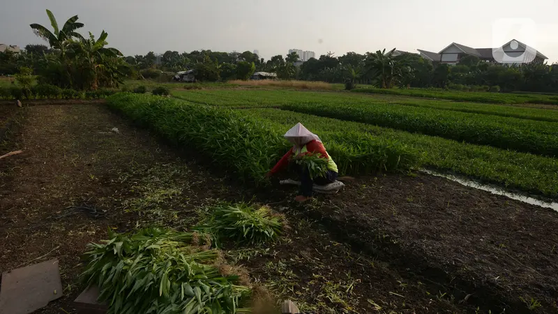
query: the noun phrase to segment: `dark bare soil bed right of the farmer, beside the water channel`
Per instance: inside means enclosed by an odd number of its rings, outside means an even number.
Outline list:
[[[361,178],[307,207],[354,248],[492,313],[557,313],[558,213],[446,179]],[[337,230],[335,232],[335,230]],[[498,313],[498,312],[497,312]]]

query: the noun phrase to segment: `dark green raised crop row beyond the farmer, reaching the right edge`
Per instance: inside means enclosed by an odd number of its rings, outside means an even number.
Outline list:
[[[432,110],[391,104],[300,103],[284,109],[409,132],[435,135],[472,144],[558,156],[558,124],[485,114]]]

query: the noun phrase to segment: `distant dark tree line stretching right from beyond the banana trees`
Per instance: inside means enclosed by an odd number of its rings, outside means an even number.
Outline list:
[[[299,63],[293,52],[278,54],[269,60],[252,52],[212,52],[211,50],[183,52],[167,51],[160,63],[153,52],[145,56],[126,57],[136,70],[157,68],[162,71],[194,69],[199,80],[246,80],[254,71],[277,73],[285,80],[308,80],[345,83],[347,89],[356,84],[372,84],[379,88],[420,87],[451,88],[462,91],[538,91],[558,92],[558,65],[523,64],[506,66],[488,63],[467,56],[455,66],[423,59],[419,54],[394,55],[386,52],[347,52],[335,57],[332,52]],[[157,74],[156,74],[157,75]],[[492,89],[491,89],[492,88]]]

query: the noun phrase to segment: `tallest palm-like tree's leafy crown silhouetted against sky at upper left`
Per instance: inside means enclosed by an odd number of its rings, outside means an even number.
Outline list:
[[[63,59],[66,57],[66,50],[68,45],[70,45],[70,40],[72,38],[80,40],[84,39],[83,36],[76,31],[77,29],[84,27],[84,24],[78,23],[78,17],[75,15],[70,17],[66,23],[64,23],[62,29],[59,29],[58,22],[56,22],[56,18],[50,10],[47,10],[47,15],[50,20],[50,24],[52,25],[52,29],[54,29],[54,33],[40,24],[31,24],[29,26],[31,26],[31,29],[33,29],[33,33],[35,33],[36,36],[47,40],[50,47],[60,50],[61,58]]]

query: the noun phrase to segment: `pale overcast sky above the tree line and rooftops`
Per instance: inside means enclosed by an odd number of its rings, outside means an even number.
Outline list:
[[[29,24],[51,28],[48,8],[60,26],[77,14],[82,33],[98,36],[105,29],[110,46],[125,55],[259,50],[269,59],[292,48],[318,57],[393,47],[439,52],[452,42],[491,47],[496,29],[505,33],[500,45],[515,38],[549,63],[558,61],[556,0],[0,0],[0,8],[0,43],[21,47],[43,43]],[[503,18],[519,24],[503,31]]]

